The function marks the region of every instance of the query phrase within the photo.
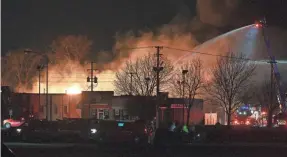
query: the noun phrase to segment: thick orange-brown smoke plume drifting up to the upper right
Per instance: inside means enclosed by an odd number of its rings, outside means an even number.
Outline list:
[[[167,46],[191,50],[219,34],[248,23],[249,16],[242,13],[245,4],[240,0],[198,0],[197,15],[192,17],[189,8],[182,4],[177,16],[169,24],[149,32],[128,32],[117,35],[113,55],[100,53],[98,58],[109,58],[112,61],[104,69],[116,70],[126,59],[133,60],[154,49],[137,49],[147,46]],[[246,11],[248,11],[248,8]],[[250,9],[250,7],[249,7]],[[132,49],[131,49],[132,48]],[[170,59],[178,58],[186,52],[163,50]]]

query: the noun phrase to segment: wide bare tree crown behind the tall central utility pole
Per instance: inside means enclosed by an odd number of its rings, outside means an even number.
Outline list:
[[[160,72],[160,84],[163,88],[169,82],[173,66],[166,58],[161,58],[163,71]],[[156,65],[153,54],[147,54],[134,61],[126,61],[125,67],[116,73],[114,81],[115,92],[121,95],[146,95],[155,94],[156,73],[153,67]]]

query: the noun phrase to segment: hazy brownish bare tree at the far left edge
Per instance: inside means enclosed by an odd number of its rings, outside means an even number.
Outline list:
[[[19,49],[9,52],[3,61],[2,78],[5,79],[3,82],[20,92],[32,89],[36,68],[41,61],[40,56],[25,54],[24,50]]]

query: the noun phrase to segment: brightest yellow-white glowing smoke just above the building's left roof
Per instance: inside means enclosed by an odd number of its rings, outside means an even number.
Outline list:
[[[96,69],[96,65],[94,67]],[[79,94],[81,91],[91,90],[91,83],[87,82],[87,77],[90,76],[90,65],[80,65],[76,62],[66,62],[65,64],[54,65],[49,67],[49,93],[67,93]],[[46,90],[46,75],[45,70],[42,72],[41,77],[41,93]],[[102,71],[94,72],[94,76],[98,77],[98,83],[94,83],[95,91],[111,91],[114,89],[113,80],[114,72]],[[33,84],[31,93],[39,92],[39,79]]]

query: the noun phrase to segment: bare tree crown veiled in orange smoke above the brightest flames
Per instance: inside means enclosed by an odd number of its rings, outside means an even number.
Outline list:
[[[63,81],[68,76],[77,75],[77,69],[83,68],[85,61],[90,60],[92,41],[82,35],[60,36],[55,39],[51,48],[53,53],[49,55],[52,65],[56,68],[56,75],[59,76],[57,81]]]

